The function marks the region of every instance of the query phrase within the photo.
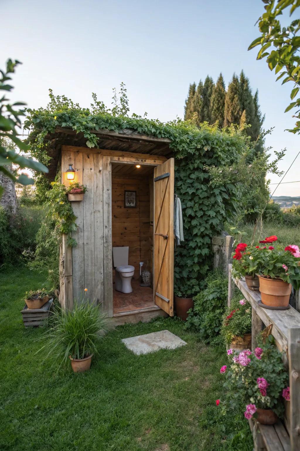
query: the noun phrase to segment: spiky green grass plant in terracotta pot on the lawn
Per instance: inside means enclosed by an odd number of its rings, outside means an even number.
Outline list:
[[[75,373],[90,369],[96,343],[107,331],[108,320],[99,305],[84,298],[74,301],[72,310],[58,309],[53,327],[46,332],[46,344],[40,349],[54,355],[61,364],[71,361]]]

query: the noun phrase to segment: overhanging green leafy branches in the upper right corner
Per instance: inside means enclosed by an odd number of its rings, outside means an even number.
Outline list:
[[[257,60],[266,58],[269,69],[278,74],[276,81],[283,78],[282,84],[292,82],[291,100],[285,112],[296,110],[293,117],[298,119],[294,129],[288,131],[300,133],[300,19],[292,20],[287,27],[282,27],[279,16],[289,10],[290,16],[300,7],[299,0],[262,0],[265,12],[258,19],[260,36],[249,46],[248,50],[260,46]],[[282,70],[283,69],[283,70]]]

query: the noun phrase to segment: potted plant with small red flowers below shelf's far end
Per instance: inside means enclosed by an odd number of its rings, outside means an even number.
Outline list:
[[[221,336],[227,349],[251,349],[252,309],[246,299],[233,299],[226,308],[221,326]]]

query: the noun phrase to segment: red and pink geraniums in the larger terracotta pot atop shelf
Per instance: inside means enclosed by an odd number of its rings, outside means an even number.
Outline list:
[[[260,244],[269,244],[277,237],[268,237]],[[287,246],[284,250],[274,246],[263,246],[251,253],[251,271],[255,271],[260,279],[262,304],[272,308],[287,308],[291,295],[291,287],[300,288],[300,251],[298,246]]]

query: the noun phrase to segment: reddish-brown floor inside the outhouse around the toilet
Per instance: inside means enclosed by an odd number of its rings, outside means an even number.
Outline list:
[[[149,286],[140,286],[140,278],[131,281],[132,293],[121,293],[116,291],[113,284],[113,315],[125,312],[144,310],[148,308],[159,309],[153,301],[153,290]]]

